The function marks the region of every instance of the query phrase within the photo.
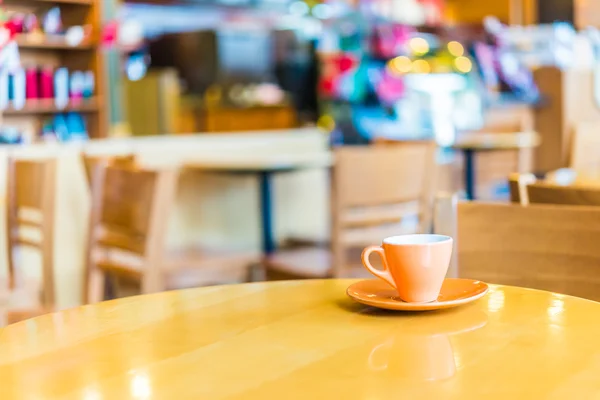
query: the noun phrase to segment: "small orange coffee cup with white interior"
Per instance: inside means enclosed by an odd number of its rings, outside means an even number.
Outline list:
[[[383,270],[369,262],[377,252]],[[369,246],[362,253],[366,269],[398,291],[408,303],[435,301],[442,289],[452,255],[452,238],[444,235],[402,235],[383,239],[381,246]]]

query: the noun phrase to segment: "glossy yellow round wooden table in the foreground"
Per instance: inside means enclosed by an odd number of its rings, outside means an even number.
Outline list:
[[[455,309],[353,303],[352,280],[132,297],[0,331],[2,399],[588,399],[600,303],[491,286]]]

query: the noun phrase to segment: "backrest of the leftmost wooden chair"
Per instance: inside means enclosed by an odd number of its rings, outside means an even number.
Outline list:
[[[15,250],[27,246],[42,255],[42,293],[44,306],[54,306],[54,203],[56,160],[18,160],[9,158],[7,176],[6,228],[8,279],[11,289],[22,284],[15,267]]]

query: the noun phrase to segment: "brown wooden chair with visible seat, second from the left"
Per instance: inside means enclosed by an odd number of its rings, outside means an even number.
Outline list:
[[[95,168],[85,303],[104,299],[107,277],[140,284],[142,293],[247,280],[257,253],[165,251],[176,180],[175,171]]]

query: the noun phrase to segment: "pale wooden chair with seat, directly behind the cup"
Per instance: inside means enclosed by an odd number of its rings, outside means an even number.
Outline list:
[[[277,252],[265,261],[269,279],[363,275],[365,245],[430,230],[433,142],[347,146],[334,157],[331,248]]]

